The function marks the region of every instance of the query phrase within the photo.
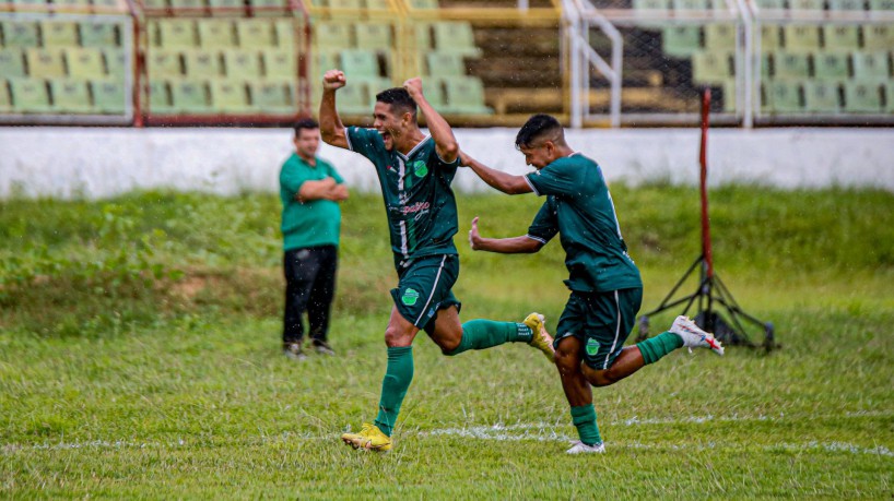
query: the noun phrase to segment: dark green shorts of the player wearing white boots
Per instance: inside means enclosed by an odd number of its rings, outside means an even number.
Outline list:
[[[573,290],[558,319],[553,346],[557,348],[565,337],[577,337],[584,344],[584,362],[596,370],[608,369],[636,324],[642,302],[642,287],[608,293]]]

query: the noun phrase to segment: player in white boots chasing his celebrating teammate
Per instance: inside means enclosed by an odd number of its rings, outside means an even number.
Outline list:
[[[464,152],[462,165],[504,193],[533,192],[546,195],[546,201],[527,235],[483,238],[475,217],[469,243],[474,250],[530,253],[560,235],[569,273],[565,285],[572,294],[555,331],[555,363],[580,438],[567,453],[603,452],[591,386],[616,383],[683,346],[690,350],[710,348],[718,355],[724,354],[724,348],[713,335],[682,315],[669,331],[623,347],[639,311],[643,282],[621,237],[602,170],[568,146],[562,124],[549,115],[531,117],[519,130],[516,147],[537,170],[513,176]]]

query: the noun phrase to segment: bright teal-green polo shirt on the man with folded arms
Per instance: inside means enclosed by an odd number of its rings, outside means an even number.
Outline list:
[[[341,208],[331,200],[298,202],[296,199],[305,181],[321,181],[331,177],[338,183],[344,180],[328,162],[317,158],[311,166],[293,153],[280,170],[280,199],[282,200],[283,250],[304,247],[338,246],[341,226]]]

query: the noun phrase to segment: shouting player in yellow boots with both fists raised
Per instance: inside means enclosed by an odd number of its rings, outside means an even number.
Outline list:
[[[320,131],[329,144],[356,152],[376,168],[388,217],[398,286],[385,330],[388,365],[381,383],[375,424],[341,439],[355,449],[391,449],[400,406],[413,380],[413,339],[424,330],[445,355],[524,342],[552,361],[552,338],[543,317],[531,313],[524,322],[472,320],[460,324],[460,302],[451,288],[459,276],[454,246],[457,208],[450,183],[459,167],[459,145],[450,126],[432,108],[422,81],[410,79],[403,88],[376,95],[374,129],[345,128],[336,110],[336,92],[346,84],[344,73],[324,75]],[[431,135],[420,130],[417,109]]]

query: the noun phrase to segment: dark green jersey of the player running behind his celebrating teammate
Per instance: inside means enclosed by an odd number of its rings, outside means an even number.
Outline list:
[[[614,203],[599,165],[579,153],[526,176],[538,195],[546,195],[528,236],[546,243],[560,234],[565,284],[581,293],[643,287],[627,254]]]

